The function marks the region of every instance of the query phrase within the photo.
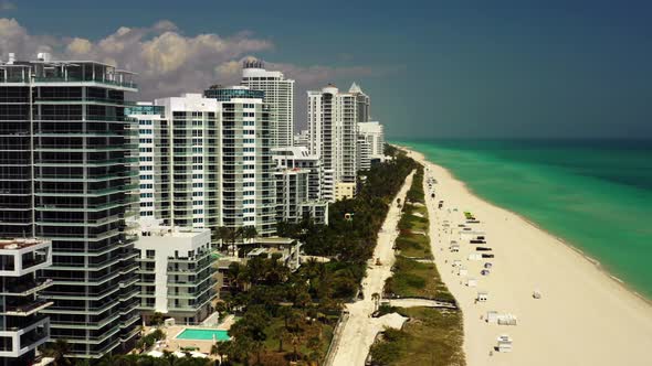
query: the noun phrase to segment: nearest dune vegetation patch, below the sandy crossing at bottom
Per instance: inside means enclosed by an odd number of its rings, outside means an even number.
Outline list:
[[[465,365],[462,312],[399,308],[410,317],[402,330],[386,330],[371,346],[376,365]]]

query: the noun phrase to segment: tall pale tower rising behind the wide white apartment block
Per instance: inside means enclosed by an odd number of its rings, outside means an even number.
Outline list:
[[[264,101],[271,107],[271,147],[293,146],[294,138],[294,80],[281,72],[266,71],[262,61],[245,61],[242,65],[242,85],[265,93]]]

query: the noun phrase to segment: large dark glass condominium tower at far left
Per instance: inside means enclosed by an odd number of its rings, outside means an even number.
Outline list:
[[[92,61],[0,64],[0,237],[52,243],[40,278],[51,338],[70,356],[132,348],[138,334],[132,211],[133,75]]]

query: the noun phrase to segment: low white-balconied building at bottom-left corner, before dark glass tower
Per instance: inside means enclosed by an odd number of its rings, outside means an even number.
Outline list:
[[[40,311],[52,302],[36,298],[52,280],[36,271],[52,265],[52,244],[0,240],[0,365],[30,365],[35,348],[50,340],[50,320]]]

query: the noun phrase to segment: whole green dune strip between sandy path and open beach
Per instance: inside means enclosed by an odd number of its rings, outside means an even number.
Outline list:
[[[437,266],[416,260],[432,258],[422,166],[414,174],[406,201],[396,240],[400,255],[393,276],[386,282],[385,292],[388,297],[427,298],[454,303],[455,299],[441,281]],[[386,330],[371,346],[375,365],[465,365],[461,311],[381,306],[379,313],[392,310],[410,320],[402,330]]]

